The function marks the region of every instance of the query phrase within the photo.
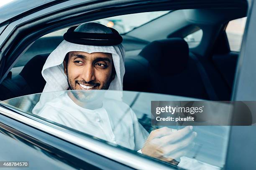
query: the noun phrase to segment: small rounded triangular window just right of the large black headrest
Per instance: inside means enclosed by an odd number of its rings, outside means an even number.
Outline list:
[[[186,37],[184,37],[184,40],[189,45],[189,48],[196,47],[197,45],[200,44],[200,42],[202,40],[202,34],[203,34],[202,29],[199,29],[199,30],[187,35]]]

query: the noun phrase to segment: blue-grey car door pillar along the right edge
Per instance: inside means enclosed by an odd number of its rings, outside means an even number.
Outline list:
[[[256,101],[256,3],[248,1],[248,15],[238,57],[233,101]],[[243,113],[241,113],[243,114]],[[255,123],[255,114],[253,114]],[[256,169],[256,126],[231,126],[225,169]]]

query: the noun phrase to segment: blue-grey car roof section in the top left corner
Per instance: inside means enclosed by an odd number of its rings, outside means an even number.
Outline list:
[[[31,13],[38,9],[42,9],[42,7],[64,1],[67,0],[13,0],[0,7],[0,25],[8,20],[18,18],[20,15]]]

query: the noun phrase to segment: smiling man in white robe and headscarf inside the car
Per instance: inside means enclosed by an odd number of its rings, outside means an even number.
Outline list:
[[[101,24],[70,28],[42,70],[43,92],[61,92],[43,93],[33,113],[155,158],[181,157],[196,136],[192,127],[177,132],[165,127],[148,135],[128,105],[109,98],[109,90],[118,90],[112,92],[115,99],[122,97],[125,52],[121,42],[117,31]]]

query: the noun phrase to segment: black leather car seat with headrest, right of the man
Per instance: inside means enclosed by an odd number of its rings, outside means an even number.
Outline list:
[[[128,74],[124,77],[124,90],[141,87],[146,92],[208,99],[200,72],[182,38],[151,42],[140,52],[138,60],[132,60],[125,60]]]

